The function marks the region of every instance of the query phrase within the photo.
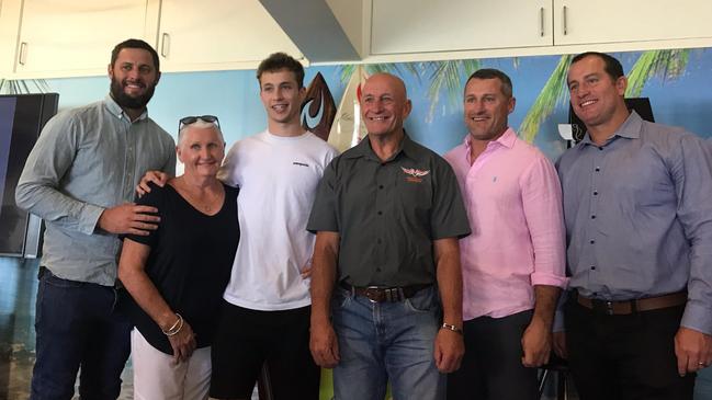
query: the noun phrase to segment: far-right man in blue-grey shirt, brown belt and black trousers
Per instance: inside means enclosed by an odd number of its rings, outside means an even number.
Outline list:
[[[704,141],[629,112],[621,64],[576,56],[584,140],[557,162],[580,398],[691,399],[712,363],[712,160]]]

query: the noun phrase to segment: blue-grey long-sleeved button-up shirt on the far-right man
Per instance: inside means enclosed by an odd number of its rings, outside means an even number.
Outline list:
[[[608,300],[685,290],[682,325],[712,333],[712,160],[704,141],[633,112],[557,162],[569,287]]]

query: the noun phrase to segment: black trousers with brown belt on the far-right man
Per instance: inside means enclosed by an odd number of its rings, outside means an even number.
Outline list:
[[[691,400],[694,375],[677,373],[675,334],[685,306],[607,316],[572,298],[568,365],[581,400]]]

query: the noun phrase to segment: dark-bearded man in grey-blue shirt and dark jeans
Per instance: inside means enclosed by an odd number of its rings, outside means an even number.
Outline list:
[[[156,229],[132,202],[148,170],[176,169],[174,141],[147,116],[160,78],[156,50],[128,39],[112,52],[111,93],[52,118],[25,163],[18,205],[46,224],[35,320],[32,399],[115,399],[131,351],[115,312],[117,235]]]

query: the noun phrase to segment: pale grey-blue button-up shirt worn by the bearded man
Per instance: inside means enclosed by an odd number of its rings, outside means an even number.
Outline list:
[[[176,145],[146,113],[132,123],[108,95],[52,118],[15,191],[18,205],[45,220],[42,264],[61,278],[114,285],[121,242],[97,221],[132,202],[148,170],[174,174]]]

